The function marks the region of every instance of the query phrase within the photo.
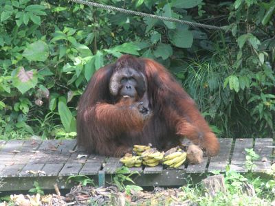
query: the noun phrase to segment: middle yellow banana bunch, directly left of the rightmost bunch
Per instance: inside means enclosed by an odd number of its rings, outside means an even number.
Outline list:
[[[164,157],[164,152],[159,152],[156,148],[151,148],[149,150],[142,152],[141,157],[143,159],[143,165],[155,167],[162,161]]]

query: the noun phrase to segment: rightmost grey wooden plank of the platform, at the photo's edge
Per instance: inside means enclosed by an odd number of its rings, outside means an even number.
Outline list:
[[[271,170],[272,145],[272,138],[255,139],[254,152],[256,152],[260,157],[258,160],[253,161],[256,167],[252,169],[252,172],[267,172],[268,170]]]

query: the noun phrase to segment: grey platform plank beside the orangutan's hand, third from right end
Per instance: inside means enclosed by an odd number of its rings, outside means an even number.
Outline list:
[[[219,139],[220,151],[219,155],[212,157],[208,166],[208,172],[214,170],[219,170],[221,172],[225,171],[225,166],[229,164],[230,161],[230,151],[232,147],[232,139],[224,138]]]

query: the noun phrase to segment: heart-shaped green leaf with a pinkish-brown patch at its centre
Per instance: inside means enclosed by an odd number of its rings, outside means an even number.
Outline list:
[[[23,67],[12,71],[12,84],[23,94],[37,84],[37,72],[32,69],[25,71]]]

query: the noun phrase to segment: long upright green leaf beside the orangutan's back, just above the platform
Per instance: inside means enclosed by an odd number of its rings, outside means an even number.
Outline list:
[[[76,131],[76,118],[73,117],[71,111],[67,107],[67,101],[64,97],[58,98],[58,113],[61,117],[61,122],[67,133]]]

